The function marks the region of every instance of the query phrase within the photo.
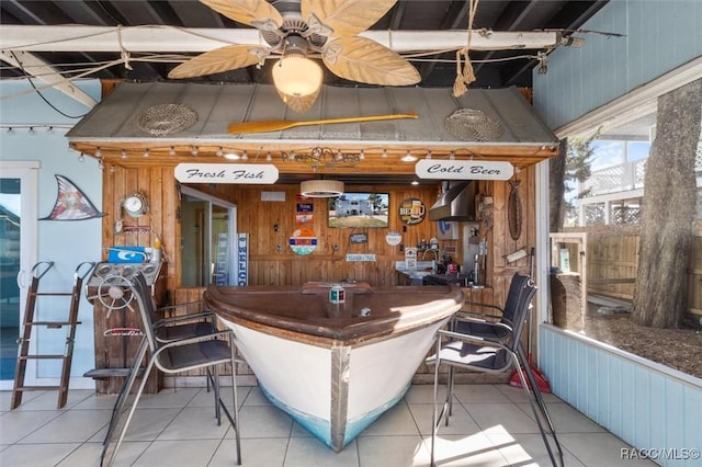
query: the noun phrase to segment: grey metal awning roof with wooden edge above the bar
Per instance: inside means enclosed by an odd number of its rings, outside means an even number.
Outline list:
[[[178,104],[193,112],[195,122],[182,130],[154,135],[145,130],[149,110]],[[501,134],[490,140],[466,140],[446,129],[445,119],[469,109],[499,123]],[[322,118],[417,112],[417,119],[312,125],[254,134],[229,134],[230,123],[264,119],[310,121]],[[140,119],[141,118],[141,119]],[[295,113],[284,105],[275,89],[263,84],[122,83],[68,134],[77,149],[109,158],[122,149],[151,156],[170,152],[199,157],[218,148],[247,151],[304,150],[315,146],[333,150],[427,151],[435,155],[469,155],[510,160],[524,167],[554,156],[555,135],[543,124],[517,88],[471,89],[454,98],[450,89],[324,87],[314,106]],[[421,155],[418,152],[417,156]],[[122,157],[124,159],[124,156]],[[157,159],[151,159],[157,160]]]

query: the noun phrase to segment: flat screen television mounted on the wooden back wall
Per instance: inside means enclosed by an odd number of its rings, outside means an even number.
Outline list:
[[[344,193],[329,198],[329,227],[387,228],[388,193]]]

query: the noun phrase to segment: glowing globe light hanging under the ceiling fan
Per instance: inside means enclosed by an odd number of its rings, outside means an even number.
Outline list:
[[[295,112],[305,112],[317,100],[324,72],[316,61],[305,56],[307,44],[303,37],[285,39],[285,53],[273,66],[273,83],[285,104]]]

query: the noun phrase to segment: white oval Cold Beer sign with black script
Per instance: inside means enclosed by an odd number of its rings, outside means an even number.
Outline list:
[[[501,161],[421,159],[415,164],[415,173],[420,179],[509,180],[514,168]]]

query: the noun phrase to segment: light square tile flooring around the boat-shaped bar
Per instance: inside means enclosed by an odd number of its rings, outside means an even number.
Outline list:
[[[230,390],[224,388],[223,395]],[[457,385],[448,428],[439,432],[439,466],[550,465],[522,389],[508,385]],[[57,392],[27,392],[10,411],[0,391],[0,466],[99,466],[115,396],[71,390],[64,409]],[[393,409],[341,453],[333,453],[268,402],[257,387],[241,387],[244,466],[407,467],[429,464],[432,386],[415,385]],[[566,466],[654,465],[621,459],[629,447],[570,406],[546,395]],[[226,418],[217,426],[204,388],[165,389],[144,396],[117,453],[117,466],[236,465]]]

